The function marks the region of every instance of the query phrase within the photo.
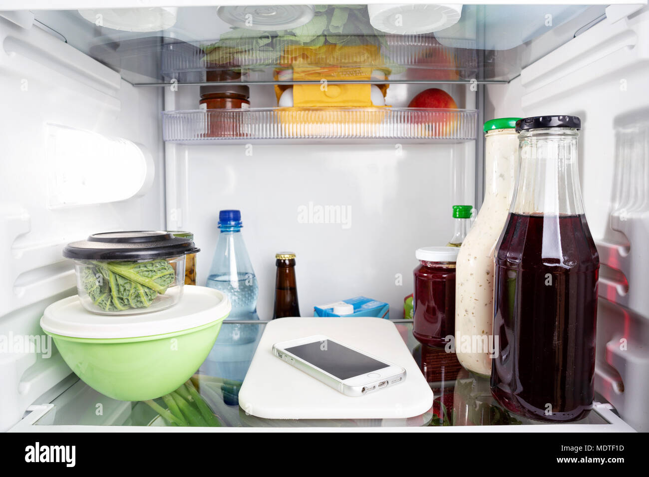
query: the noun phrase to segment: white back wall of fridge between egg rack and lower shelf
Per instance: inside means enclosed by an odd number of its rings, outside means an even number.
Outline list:
[[[254,145],[246,156],[245,146],[193,147],[186,228],[202,248],[199,284],[214,255],[219,210],[238,208],[262,319],[273,313],[275,253],[286,250],[297,254],[302,315],[364,295],[402,318],[415,249],[452,236],[452,164],[466,149],[404,145],[397,156],[394,145]],[[310,204],[341,206],[349,223],[302,223],[300,207]]]

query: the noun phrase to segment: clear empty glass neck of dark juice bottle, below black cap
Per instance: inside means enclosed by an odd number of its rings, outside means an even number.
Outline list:
[[[520,172],[510,212],[583,214],[578,138],[578,130],[570,128],[520,132]]]

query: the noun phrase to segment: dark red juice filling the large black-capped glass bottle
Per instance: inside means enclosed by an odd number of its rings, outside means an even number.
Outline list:
[[[552,238],[549,241],[544,238]],[[583,214],[510,214],[496,255],[493,394],[532,419],[593,402],[598,255]]]

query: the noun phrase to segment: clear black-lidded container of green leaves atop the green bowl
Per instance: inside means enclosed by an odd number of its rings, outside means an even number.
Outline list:
[[[170,232],[106,232],[67,244],[86,310],[110,315],[157,312],[182,297],[185,256],[199,252]]]

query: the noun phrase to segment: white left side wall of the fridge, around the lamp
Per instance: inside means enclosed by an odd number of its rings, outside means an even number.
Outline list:
[[[21,29],[3,18],[0,104],[4,112],[0,117],[0,344],[5,346],[0,353],[0,430],[4,430],[70,372],[56,352],[43,358],[11,344],[13,339],[40,336],[38,321],[45,306],[74,293],[72,264],[62,258],[62,247],[95,232],[163,227],[164,161],[160,90],[134,88],[118,73],[38,27]],[[48,150],[49,123],[140,143],[151,156],[153,183],[134,199],[49,208],[49,183],[57,172],[49,164],[53,158]],[[81,152],[92,161],[101,151]],[[104,165],[106,170],[112,166]],[[98,173],[102,170],[99,167]],[[129,173],[123,171],[125,176]]]

